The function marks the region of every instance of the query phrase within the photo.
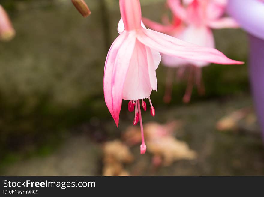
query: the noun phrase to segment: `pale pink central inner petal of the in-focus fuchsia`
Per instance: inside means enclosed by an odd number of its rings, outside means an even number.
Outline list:
[[[150,96],[152,87],[147,65],[146,46],[136,41],[123,88],[124,100],[145,99]]]

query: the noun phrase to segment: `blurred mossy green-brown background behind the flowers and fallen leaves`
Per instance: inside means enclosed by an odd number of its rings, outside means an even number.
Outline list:
[[[103,97],[104,61],[118,35],[118,1],[86,2],[92,14],[84,19],[68,0],[0,1],[16,29],[12,41],[0,43],[1,174],[100,175],[100,142],[120,137],[132,123],[124,101],[117,129]],[[160,21],[165,0],[141,2],[143,16]],[[217,30],[214,35],[217,49],[247,62],[247,35],[242,30]],[[200,157],[142,175],[263,175],[258,127],[253,134],[215,130],[226,113],[252,105],[247,63],[205,67],[206,94],[200,97],[194,89],[188,105],[182,103],[184,83],[175,83],[172,102],[163,103],[166,72],[160,65],[158,92],[152,93],[157,115],[153,119],[144,113],[143,121],[187,121],[178,138]],[[49,159],[51,166],[38,169]],[[147,165],[150,156],[137,155],[137,160]],[[64,166],[61,171],[59,166]]]

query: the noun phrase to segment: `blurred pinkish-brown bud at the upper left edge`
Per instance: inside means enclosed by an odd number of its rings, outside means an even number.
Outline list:
[[[15,36],[15,34],[16,32],[6,11],[0,5],[0,40],[9,41]]]

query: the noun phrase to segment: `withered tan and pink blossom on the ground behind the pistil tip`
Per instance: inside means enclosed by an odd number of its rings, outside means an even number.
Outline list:
[[[176,160],[196,158],[196,152],[192,151],[186,142],[173,136],[173,131],[180,127],[182,127],[181,121],[172,121],[165,125],[155,122],[145,124],[147,151],[154,154],[152,159],[154,166],[169,166]],[[128,127],[123,139],[129,145],[140,143],[140,129]]]

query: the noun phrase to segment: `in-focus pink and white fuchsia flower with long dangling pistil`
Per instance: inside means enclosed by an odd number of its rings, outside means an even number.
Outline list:
[[[196,46],[166,34],[142,27],[139,0],[119,0],[125,30],[116,38],[108,52],[104,68],[104,97],[116,125],[122,100],[129,100],[129,110],[135,106],[134,124],[140,121],[142,134],[141,154],[146,152],[140,100],[143,109],[148,98],[151,114],[155,109],[150,100],[152,90],[158,90],[156,69],[161,62],[160,52],[179,58],[220,64],[243,64],[227,58],[216,49]],[[132,105],[133,104],[133,105]]]

